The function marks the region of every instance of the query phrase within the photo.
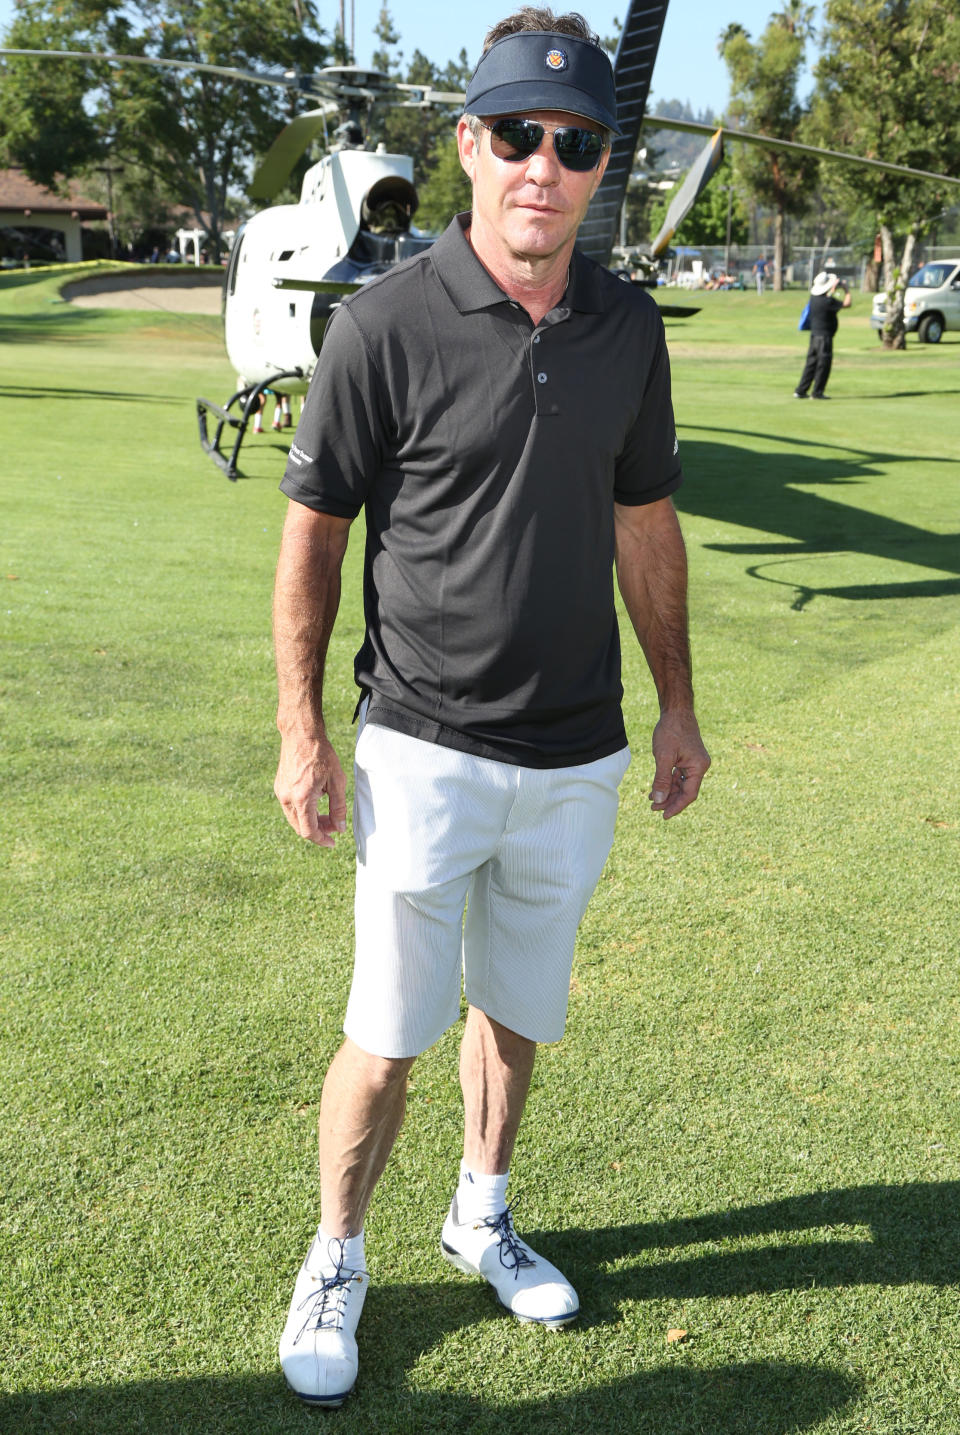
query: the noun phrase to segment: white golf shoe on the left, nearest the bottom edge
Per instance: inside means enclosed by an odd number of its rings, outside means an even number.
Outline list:
[[[370,1277],[343,1264],[343,1241],[314,1236],[280,1337],[287,1385],[310,1405],[343,1405],[357,1378],[356,1329]]]

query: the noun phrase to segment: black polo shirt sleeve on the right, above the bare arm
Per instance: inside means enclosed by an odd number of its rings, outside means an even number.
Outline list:
[[[670,357],[659,313],[654,321],[656,339],[640,410],[616,461],[613,497],[618,504],[654,504],[683,482],[670,397]]]

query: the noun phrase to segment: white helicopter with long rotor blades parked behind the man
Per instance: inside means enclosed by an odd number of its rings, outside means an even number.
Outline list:
[[[644,118],[667,4],[669,0],[630,0],[627,7],[613,62],[620,135],[611,139],[606,172],[577,235],[577,247],[590,258],[610,264],[643,125],[706,136],[649,253],[634,258],[631,276],[621,276],[650,287],[657,283],[660,260],[669,253],[673,234],[720,165],[725,141],[871,165],[910,178],[960,182],[947,175],[742,129],[660,115]],[[0,49],[0,55],[92,57],[72,50]],[[237,479],[247,426],[260,413],[264,393],[270,390],[286,402],[307,392],[326,324],[337,304],[367,280],[433,243],[433,235],[418,232],[412,222],[418,207],[413,161],[406,155],[387,154],[382,145],[367,148],[372,110],[382,105],[420,109],[462,106],[463,93],[403,85],[377,70],[344,65],[301,76],[296,70],[265,75],[142,55],[93,57],[207,70],[245,83],[281,86],[314,102],[313,109],[296,115],[280,132],[255,171],[250,194],[254,199],[267,201],[267,208],[240,227],[227,263],[224,337],[238,375],[238,387],[222,405],[207,397],[197,399],[201,445],[230,479]],[[329,122],[333,119],[339,123],[330,142]],[[293,166],[320,135],[326,136],[327,152],[307,169],[298,202],[270,205]],[[667,317],[697,313],[676,304],[662,304],[660,310]],[[215,425],[212,436],[211,420]],[[227,433],[234,436],[230,452],[221,446]]]

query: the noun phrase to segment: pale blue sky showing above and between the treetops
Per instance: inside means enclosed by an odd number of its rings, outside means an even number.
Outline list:
[[[350,30],[350,0],[347,0],[347,33]],[[356,59],[369,65],[377,42],[373,26],[380,13],[382,0],[353,0],[356,27]],[[422,50],[436,65],[455,59],[465,47],[471,59],[479,57],[484,34],[488,27],[509,14],[511,0],[472,0],[468,9],[451,4],[451,0],[387,0],[393,26],[400,33],[399,49],[405,57],[413,50]],[[623,14],[624,6],[617,0],[554,0],[554,9],[580,10],[600,34],[613,33],[614,16]],[[13,19],[13,0],[0,0],[0,32]],[[716,52],[720,30],[738,20],[756,37],[765,27],[771,13],[779,9],[779,0],[736,0],[729,10],[716,0],[670,0],[663,26],[660,50],[653,72],[651,93],[656,100],[689,100],[695,110],[710,109],[722,113],[729,85],[726,66]],[[333,30],[339,17],[339,0],[317,0],[320,23]],[[811,53],[812,53],[812,47]],[[812,88],[806,76],[801,83],[801,98]]]

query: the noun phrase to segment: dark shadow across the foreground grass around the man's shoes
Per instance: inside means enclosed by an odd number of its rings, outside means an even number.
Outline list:
[[[788,1234],[804,1238],[782,1240]],[[839,1287],[949,1286],[960,1273],[960,1182],[817,1191],[689,1220],[532,1233],[531,1240],[574,1279],[587,1330],[616,1326],[624,1300],[729,1299],[776,1290],[809,1290],[812,1300],[815,1293]],[[703,1246],[710,1250],[696,1250]],[[337,1415],[300,1406],[278,1373],[211,1375],[0,1396],[0,1431],[284,1435],[317,1429],[317,1422],[330,1419],[342,1432],[364,1435],[801,1435],[861,1393],[850,1375],[814,1363],[696,1366],[696,1342],[680,1359],[667,1356],[660,1369],[552,1398],[525,1398],[522,1388],[512,1398],[492,1396],[498,1372],[488,1369],[489,1356],[486,1363],[463,1363],[462,1353],[459,1363],[443,1370],[446,1389],[410,1385],[409,1372],[422,1356],[446,1336],[489,1322],[494,1309],[492,1293],[479,1281],[373,1284],[360,1330],[360,1382]],[[610,1339],[616,1339],[613,1332]],[[521,1330],[504,1316],[504,1340],[542,1340],[547,1366],[564,1340],[577,1340],[577,1332]],[[488,1332],[478,1353],[489,1349]],[[521,1349],[517,1376],[531,1358],[538,1359],[537,1349],[532,1356]],[[502,1358],[501,1379],[509,1360],[509,1355]]]

